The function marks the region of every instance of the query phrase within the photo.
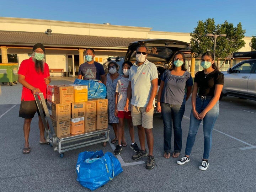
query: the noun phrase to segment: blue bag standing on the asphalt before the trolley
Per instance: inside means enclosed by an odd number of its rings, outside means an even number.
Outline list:
[[[99,158],[88,163],[87,159]],[[110,152],[85,151],[78,155],[76,163],[77,181],[91,191],[105,185],[123,171],[118,159]]]

